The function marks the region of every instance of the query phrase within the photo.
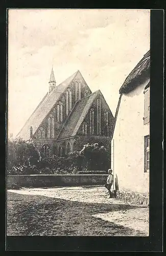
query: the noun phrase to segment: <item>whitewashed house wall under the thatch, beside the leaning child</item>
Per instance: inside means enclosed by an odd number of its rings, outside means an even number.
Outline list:
[[[144,136],[149,135],[149,123],[144,124],[143,120],[144,89],[148,82],[121,98],[111,143],[111,167],[120,190],[149,192],[149,173],[144,173]]]

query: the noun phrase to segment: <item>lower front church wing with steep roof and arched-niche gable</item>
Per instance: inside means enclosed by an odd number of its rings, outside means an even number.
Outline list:
[[[76,135],[111,135],[113,115],[102,93],[99,91],[77,102],[65,122],[58,140]]]

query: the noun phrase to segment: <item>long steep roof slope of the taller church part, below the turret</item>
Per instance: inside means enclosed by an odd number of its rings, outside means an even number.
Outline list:
[[[46,93],[16,137],[20,137],[24,140],[30,139],[30,127],[32,126],[34,134],[43,119],[49,114],[55,103],[58,101],[60,95],[67,89],[69,83],[72,82],[78,72],[79,71],[68,77],[65,81],[56,86],[55,89],[53,89],[50,93]]]

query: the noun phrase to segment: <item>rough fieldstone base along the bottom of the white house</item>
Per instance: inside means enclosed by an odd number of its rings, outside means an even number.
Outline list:
[[[133,191],[117,190],[116,199],[138,205],[149,206],[149,194],[135,193]]]

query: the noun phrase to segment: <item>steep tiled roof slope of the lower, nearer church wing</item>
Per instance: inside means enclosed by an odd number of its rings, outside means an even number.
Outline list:
[[[94,99],[96,99],[96,97],[99,94],[102,95],[100,90],[77,101],[72,113],[70,113],[66,122],[64,123],[64,126],[63,126],[57,140],[61,140],[61,139],[67,138],[67,137],[72,137],[77,134],[79,127],[80,127],[81,123],[84,121]]]

